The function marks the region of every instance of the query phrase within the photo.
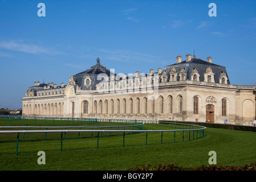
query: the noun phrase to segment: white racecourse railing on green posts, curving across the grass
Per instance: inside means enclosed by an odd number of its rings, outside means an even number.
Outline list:
[[[0,117],[1,118],[1,117]],[[11,118],[11,117],[9,117]],[[23,118],[23,117],[22,117]],[[31,119],[35,119],[35,117],[30,117]],[[36,117],[38,118],[38,117]],[[42,118],[47,118],[47,117],[42,117]],[[84,118],[82,118],[84,119]],[[189,132],[189,140],[190,140],[190,132],[193,131],[193,139],[194,139],[194,133],[196,132],[196,139],[199,137],[204,137],[205,133],[204,130],[206,127],[200,126],[200,125],[190,125],[190,124],[185,124],[185,123],[176,123],[176,122],[158,122],[158,121],[143,121],[143,120],[128,120],[128,119],[97,119],[94,118],[95,121],[101,121],[101,122],[113,122],[113,123],[118,123],[118,122],[125,122],[128,123],[129,125],[120,125],[120,126],[0,126],[0,129],[24,129],[24,130],[0,130],[0,134],[7,134],[7,133],[17,133],[17,145],[16,145],[16,155],[18,155],[18,142],[19,142],[19,134],[23,133],[23,140],[25,137],[25,133],[60,133],[60,150],[62,150],[62,143],[63,143],[63,133],[64,133],[64,139],[65,139],[65,134],[66,133],[97,133],[97,148],[99,148],[99,133],[109,133],[109,136],[111,132],[117,132],[118,133],[123,133],[123,147],[124,147],[124,141],[125,141],[125,133],[146,133],[146,145],[147,145],[147,139],[148,139],[148,133],[151,132],[159,132],[161,133],[161,144],[162,144],[162,136],[163,133],[165,132],[173,132],[174,134],[174,143],[176,142],[176,132],[180,131],[182,132],[182,141],[184,141],[184,132],[187,131]],[[148,123],[149,125],[164,125],[164,126],[177,126],[179,129],[175,130],[143,130],[142,126]],[[130,125],[132,124],[132,125]],[[121,127],[124,128],[124,130],[116,130],[112,128],[116,127]],[[129,127],[128,130],[125,130],[125,127]],[[130,130],[130,127],[133,127],[132,130]],[[134,130],[135,127],[135,130]],[[111,128],[110,130],[104,130],[106,128]],[[45,130],[26,130],[26,129],[45,129]],[[53,129],[53,130],[48,130],[48,129]],[[55,130],[59,129],[59,130]],[[64,129],[64,130],[63,130]],[[67,130],[68,129],[68,130]],[[71,130],[71,129],[76,129],[76,130]],[[82,130],[83,129],[83,130]],[[84,130],[86,129],[86,130]],[[96,130],[95,130],[96,129]],[[98,130],[101,129],[101,130]],[[46,140],[46,136],[45,136]]]

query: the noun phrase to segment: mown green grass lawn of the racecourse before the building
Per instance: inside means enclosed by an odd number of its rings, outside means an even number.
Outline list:
[[[44,123],[42,123],[43,125]],[[123,125],[98,123],[86,126]],[[76,126],[76,125],[75,125]],[[85,126],[80,123],[77,126]],[[120,127],[121,129],[121,127]],[[173,129],[170,126],[145,124],[143,130]],[[0,134],[0,170],[126,170],[140,164],[178,163],[178,166],[209,166],[209,151],[217,152],[217,165],[244,166],[256,162],[256,133],[250,131],[208,128],[205,137],[194,139],[193,133],[182,132],[99,134],[67,133],[60,151],[60,133],[19,135],[18,155],[15,155],[17,134]],[[38,151],[46,153],[46,164],[39,165]]]

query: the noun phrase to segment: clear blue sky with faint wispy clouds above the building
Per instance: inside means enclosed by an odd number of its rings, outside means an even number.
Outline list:
[[[46,6],[39,17],[38,3]],[[217,16],[210,17],[209,3]],[[0,108],[22,107],[35,81],[67,84],[96,64],[149,73],[193,55],[255,85],[256,1],[0,1]]]

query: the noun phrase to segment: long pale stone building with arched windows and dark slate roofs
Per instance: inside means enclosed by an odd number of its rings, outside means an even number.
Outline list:
[[[60,86],[34,82],[23,115],[136,118],[253,125],[255,86],[230,84],[226,68],[190,54],[148,74],[116,74],[100,64]]]

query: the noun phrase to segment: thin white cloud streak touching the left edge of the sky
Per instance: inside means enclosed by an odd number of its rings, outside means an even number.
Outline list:
[[[23,41],[2,41],[0,42],[0,48],[7,49],[10,51],[18,51],[32,54],[46,53],[46,54],[55,54],[56,51],[52,51],[51,49],[44,48],[41,46],[37,46],[35,44],[26,44]]]

